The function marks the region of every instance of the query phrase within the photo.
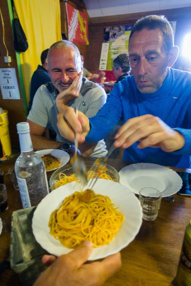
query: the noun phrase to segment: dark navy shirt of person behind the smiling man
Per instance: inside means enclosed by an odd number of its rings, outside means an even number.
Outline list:
[[[38,65],[36,71],[34,71],[32,78],[31,78],[29,111],[30,111],[31,106],[33,104],[33,98],[35,96],[37,89],[42,84],[47,84],[47,82],[49,82],[49,81],[51,81],[51,78],[50,78],[50,75],[48,74],[47,70],[44,69],[43,66]]]

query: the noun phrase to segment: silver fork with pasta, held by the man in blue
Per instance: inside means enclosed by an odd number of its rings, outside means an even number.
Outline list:
[[[87,188],[91,188],[91,189],[93,188],[93,186],[95,185],[95,183],[97,182],[99,178],[98,168],[104,169],[106,167],[107,158],[111,155],[114,149],[115,147],[112,145],[106,156],[96,159],[96,161],[93,163],[93,165],[91,166],[90,170],[87,173],[87,178],[88,178],[92,172],[92,175],[90,176],[90,178],[87,179],[87,185],[86,185]],[[92,180],[92,179],[96,179],[96,180]]]

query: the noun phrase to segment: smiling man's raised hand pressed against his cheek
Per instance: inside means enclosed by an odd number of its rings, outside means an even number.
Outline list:
[[[65,106],[68,105],[70,101],[78,98],[79,92],[81,89],[81,80],[82,74],[79,75],[73,80],[71,86],[63,91],[61,91],[56,97],[56,106],[58,112],[61,112]]]

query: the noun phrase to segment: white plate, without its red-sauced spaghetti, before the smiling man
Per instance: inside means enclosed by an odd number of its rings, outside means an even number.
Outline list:
[[[51,153],[53,156],[61,159],[60,160],[60,166],[58,168],[66,165],[66,163],[70,160],[70,155],[67,152],[63,151],[63,150],[45,149],[45,150],[36,151],[35,153],[38,154],[39,156]],[[58,168],[54,168],[52,170],[48,170],[47,172],[52,172],[52,171],[54,171],[54,170],[56,170]]]

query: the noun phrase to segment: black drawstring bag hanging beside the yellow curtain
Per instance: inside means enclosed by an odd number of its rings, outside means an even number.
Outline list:
[[[17,52],[25,52],[28,49],[28,41],[21,26],[21,23],[19,21],[19,17],[16,12],[14,2],[13,2],[13,13],[14,13],[14,19],[13,19],[14,48]]]

